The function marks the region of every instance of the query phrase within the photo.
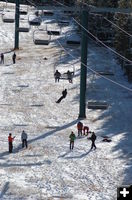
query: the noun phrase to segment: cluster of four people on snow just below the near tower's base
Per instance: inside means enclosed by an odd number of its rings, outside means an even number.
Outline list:
[[[89,127],[83,126],[83,123],[80,121],[77,123],[77,129],[78,129],[78,136],[80,136],[80,135],[82,136],[82,130],[83,130],[83,135],[85,135],[85,133],[87,133],[87,135],[91,133],[91,137],[88,138],[89,140],[92,141],[91,150],[93,148],[96,149],[95,140],[96,140],[97,136],[95,135],[95,133],[89,131]],[[69,138],[70,138],[70,150],[71,150],[74,148],[74,141],[76,139],[76,135],[74,134],[73,131],[71,132]]]

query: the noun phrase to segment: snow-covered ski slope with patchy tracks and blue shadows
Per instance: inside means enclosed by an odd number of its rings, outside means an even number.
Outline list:
[[[44,17],[40,28],[45,23],[54,27],[55,19],[62,17],[61,12],[52,9],[55,14]],[[29,8],[29,14],[33,12]],[[27,20],[27,16],[22,17]],[[132,183],[132,92],[93,75],[90,70],[86,102],[105,100],[109,107],[87,109],[87,118],[82,120],[95,131],[97,150],[90,151],[91,141],[86,136],[77,137],[74,150],[69,150],[69,135],[74,131],[77,136],[79,121],[80,48],[68,47],[66,36],[75,28],[70,21],[69,26],[62,27],[60,36],[51,36],[48,46],[33,43],[35,26],[29,33],[20,33],[20,49],[13,65],[14,24],[3,23],[0,18],[0,53],[5,55],[5,63],[0,65],[2,200],[115,200],[117,187]],[[114,73],[110,79],[132,88],[114,55],[91,40],[88,67],[110,70]],[[55,83],[55,69],[75,69],[73,84],[67,80]],[[56,104],[65,88],[67,97]],[[22,130],[28,133],[28,149],[21,149]],[[16,136],[12,154],[8,153],[10,132]],[[112,142],[102,142],[103,135]]]

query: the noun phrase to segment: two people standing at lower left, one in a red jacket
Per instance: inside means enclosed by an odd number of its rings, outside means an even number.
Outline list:
[[[28,138],[27,133],[23,130],[21,134],[22,148],[24,148],[25,146],[26,148],[28,147],[27,138]],[[15,136],[12,137],[12,134],[9,133],[9,136],[8,136],[9,153],[12,153],[14,139],[15,139]]]

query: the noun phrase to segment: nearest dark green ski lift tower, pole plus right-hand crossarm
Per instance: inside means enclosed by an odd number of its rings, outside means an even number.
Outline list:
[[[80,75],[80,110],[79,110],[79,118],[86,118],[86,103],[85,103],[85,95],[86,95],[86,78],[87,78],[87,29],[88,29],[88,12],[95,13],[132,13],[131,9],[125,8],[107,8],[107,7],[94,7],[92,6],[90,9],[85,8],[82,10],[82,19],[81,19],[81,32],[82,32],[82,41],[81,41],[81,75]],[[82,28],[84,27],[84,28]]]

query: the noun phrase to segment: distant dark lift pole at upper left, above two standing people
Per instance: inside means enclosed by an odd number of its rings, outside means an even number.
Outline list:
[[[19,0],[16,0],[16,12],[15,12],[15,46],[14,49],[19,49]]]

